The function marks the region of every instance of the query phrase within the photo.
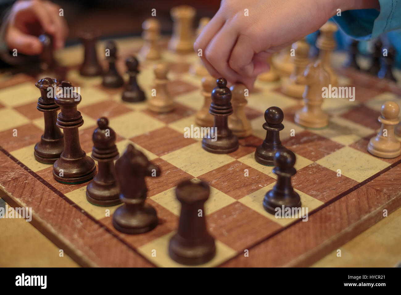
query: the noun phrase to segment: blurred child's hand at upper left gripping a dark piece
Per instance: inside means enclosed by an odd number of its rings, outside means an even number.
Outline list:
[[[53,36],[56,49],[64,47],[68,27],[64,16],[59,16],[59,9],[49,1],[15,2],[6,18],[5,41],[8,47],[27,55],[40,54],[42,44],[37,36],[41,33]]]

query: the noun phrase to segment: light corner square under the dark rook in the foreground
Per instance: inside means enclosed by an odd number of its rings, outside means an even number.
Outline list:
[[[152,240],[151,242],[139,247],[138,252],[159,267],[186,267],[185,265],[175,262],[168,255],[168,244],[174,234],[176,234],[175,231]],[[215,267],[237,254],[235,250],[231,249],[229,246],[223,244],[223,242],[220,242],[219,240],[215,240],[215,245],[215,257],[209,262],[196,265],[195,267]],[[155,257],[152,256],[154,250],[156,250]]]

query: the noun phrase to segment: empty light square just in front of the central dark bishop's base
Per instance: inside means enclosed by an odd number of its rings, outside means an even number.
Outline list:
[[[194,177],[234,161],[229,155],[205,151],[200,142],[185,146],[161,158]]]

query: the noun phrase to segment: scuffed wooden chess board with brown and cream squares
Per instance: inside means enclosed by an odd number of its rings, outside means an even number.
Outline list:
[[[117,68],[125,71],[124,59],[138,53],[138,38],[116,41],[122,57]],[[248,99],[246,114],[253,134],[240,139],[240,147],[228,155],[204,151],[201,138],[184,138],[184,127],[194,124],[203,104],[201,77],[188,73],[196,54],[176,55],[166,50],[170,65],[168,89],[178,107],[168,114],[147,110],[146,102],[122,102],[122,88],[105,89],[101,77],[81,77],[81,45],[57,55],[69,67],[67,79],[81,87],[78,110],[82,148],[91,155],[96,120],[109,118],[123,153],[128,143],[162,170],[148,177],[148,199],[158,213],[158,226],[145,234],[127,235],[112,226],[118,206],[98,207],[87,202],[87,183],[67,185],[53,179],[52,165],[34,159],[34,145],[44,128],[43,114],[36,110],[39,91],[34,82],[41,76],[26,74],[0,78],[0,197],[14,207],[31,207],[32,224],[83,266],[175,267],[168,256],[168,242],[176,231],[180,205],[174,190],[179,181],[207,181],[211,196],[205,206],[207,226],[215,237],[217,254],[207,267],[309,266],[330,251],[360,234],[401,205],[401,157],[380,159],[367,152],[369,138],[377,133],[383,102],[401,106],[400,88],[362,73],[340,69],[341,85],[356,87],[356,100],[328,98],[323,109],[330,115],[327,128],[312,130],[294,123],[300,100],[280,92],[280,83],[257,81]],[[104,43],[98,43],[99,57]],[[153,63],[144,61],[138,81],[150,97]],[[263,209],[264,194],[273,187],[272,167],[254,160],[256,146],[265,137],[263,113],[270,106],[284,111],[283,144],[296,153],[297,173],[292,179],[307,222],[298,218],[277,219]],[[18,136],[13,136],[14,129]],[[290,136],[294,129],[295,136]],[[249,176],[245,176],[248,169]],[[338,177],[338,169],[341,176]],[[109,210],[110,216],[106,216]],[[156,256],[152,253],[156,250]],[[249,256],[245,256],[249,250]]]

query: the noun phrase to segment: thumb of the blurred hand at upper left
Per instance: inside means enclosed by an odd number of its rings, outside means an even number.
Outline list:
[[[19,30],[9,30],[6,35],[8,48],[16,49],[19,53],[26,55],[38,55],[42,52],[43,47],[38,37],[27,35]]]

